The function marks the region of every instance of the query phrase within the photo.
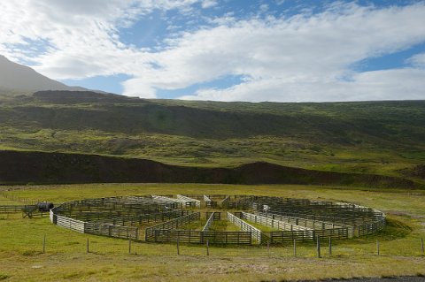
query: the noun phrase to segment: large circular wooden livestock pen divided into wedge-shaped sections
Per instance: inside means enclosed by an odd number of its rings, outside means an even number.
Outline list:
[[[365,236],[383,229],[385,215],[346,202],[177,194],[64,202],[50,210],[50,221],[127,240],[253,245]]]

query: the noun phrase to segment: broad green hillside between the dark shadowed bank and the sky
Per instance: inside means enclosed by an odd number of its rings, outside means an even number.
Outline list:
[[[236,166],[267,161],[407,176],[425,163],[425,101],[217,103],[93,92],[0,94],[0,149]]]

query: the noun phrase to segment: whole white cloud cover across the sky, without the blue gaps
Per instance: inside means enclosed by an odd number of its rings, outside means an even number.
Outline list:
[[[278,1],[282,2],[282,1]],[[212,0],[0,2],[0,52],[32,59],[54,79],[126,73],[126,95],[187,88],[228,75],[245,78],[226,89],[182,98],[223,101],[344,101],[425,99],[423,54],[413,67],[357,73],[352,65],[425,42],[425,4],[387,8],[332,4],[319,14],[290,18],[213,19],[211,27],[170,37],[160,50],[120,42],[120,27],[155,9],[189,11]],[[48,42],[32,57],[17,44]],[[344,79],[342,79],[344,78]]]

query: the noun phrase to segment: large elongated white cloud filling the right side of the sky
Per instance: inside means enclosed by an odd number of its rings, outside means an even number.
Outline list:
[[[394,91],[390,97],[375,95],[372,89],[382,93],[389,88],[364,81],[369,76],[384,79],[388,72],[356,74],[350,66],[425,41],[425,5],[375,10],[350,4],[338,9],[333,6],[312,17],[251,19],[184,34],[169,41],[168,50],[154,54],[158,68],[143,70],[134,82],[153,90],[186,88],[226,75],[250,78],[232,88],[182,97],[224,101],[359,100],[367,99],[367,86],[370,99],[402,98]],[[391,72],[391,77],[403,73]],[[347,77],[352,82],[341,80]]]

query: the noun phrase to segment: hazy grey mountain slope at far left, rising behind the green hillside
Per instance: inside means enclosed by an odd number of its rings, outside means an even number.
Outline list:
[[[69,87],[56,80],[50,80],[30,67],[9,61],[0,55],[0,90],[35,92],[39,90],[87,90]]]

